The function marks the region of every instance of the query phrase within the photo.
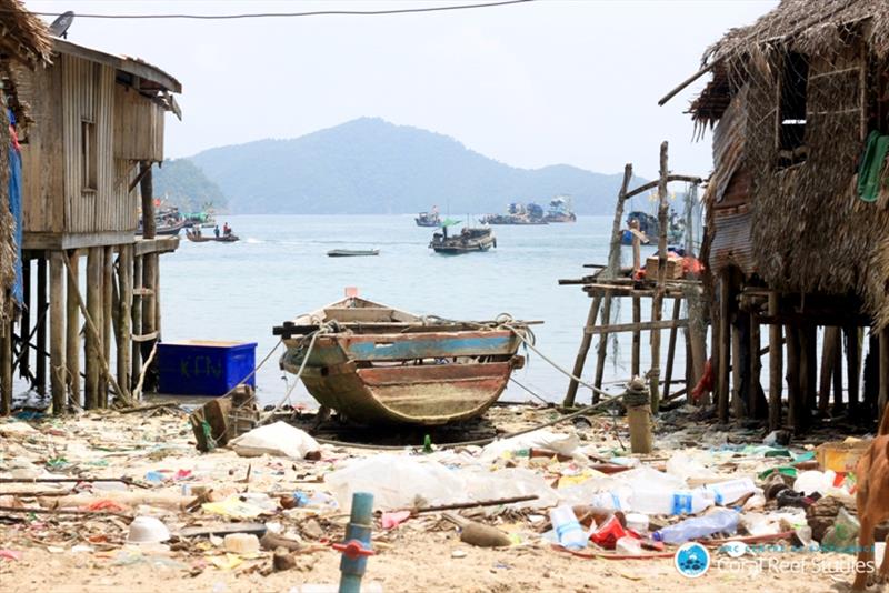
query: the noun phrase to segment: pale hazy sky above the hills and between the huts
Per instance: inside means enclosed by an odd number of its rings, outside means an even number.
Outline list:
[[[34,11],[234,13],[373,10],[460,0],[26,0]],[[176,76],[183,121],[167,155],[293,138],[362,115],[452,135],[517,167],[569,163],[655,177],[710,170],[683,111],[702,82],[659,108],[727,29],[775,0],[540,0],[382,17],[236,21],[76,20],[69,40],[138,56]]]

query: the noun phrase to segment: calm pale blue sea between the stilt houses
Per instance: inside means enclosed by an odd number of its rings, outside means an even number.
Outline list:
[[[506,312],[541,320],[543,325],[533,328],[538,348],[569,370],[590,299],[580,287],[560,287],[557,281],[588,273],[583,263],[605,263],[611,227],[610,217],[580,217],[573,224],[495,227],[497,249],[448,257],[428,249],[433,229],[417,227],[411,215],[232,215],[220,218],[220,225],[226,221],[240,242],[190,243],[183,235],[176,253],[162,255],[164,340],[257,342],[259,361],[277,343],[273,325],[341,299],[346,287],[357,287],[361,296],[420,314],[489,320]],[[376,248],[380,255],[328,258],[327,251],[336,248]],[[623,249],[627,260],[629,248]],[[629,309],[619,312],[620,319],[629,316]],[[606,381],[629,374],[628,339],[618,344],[616,361],[613,351],[612,344]],[[264,403],[278,401],[286,380],[292,381],[278,368],[279,353],[257,375]],[[678,369],[683,369],[682,361],[679,356]],[[645,344],[642,362],[645,371]],[[593,368],[590,361],[585,375]],[[513,376],[550,401],[560,401],[568,384],[533,353]],[[294,401],[313,403],[301,384],[293,394]],[[529,395],[510,383],[503,398],[523,401]],[[589,391],[581,389],[580,399],[587,401]]]

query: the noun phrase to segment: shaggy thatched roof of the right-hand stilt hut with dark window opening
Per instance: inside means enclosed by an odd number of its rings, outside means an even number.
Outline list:
[[[861,32],[870,51],[889,54],[889,6],[886,0],[782,0],[753,24],[730,29],[707,48],[701,67],[713,78],[691,103],[698,124],[713,124],[739,88],[751,62],[790,47],[810,56],[836,52],[849,34]]]

